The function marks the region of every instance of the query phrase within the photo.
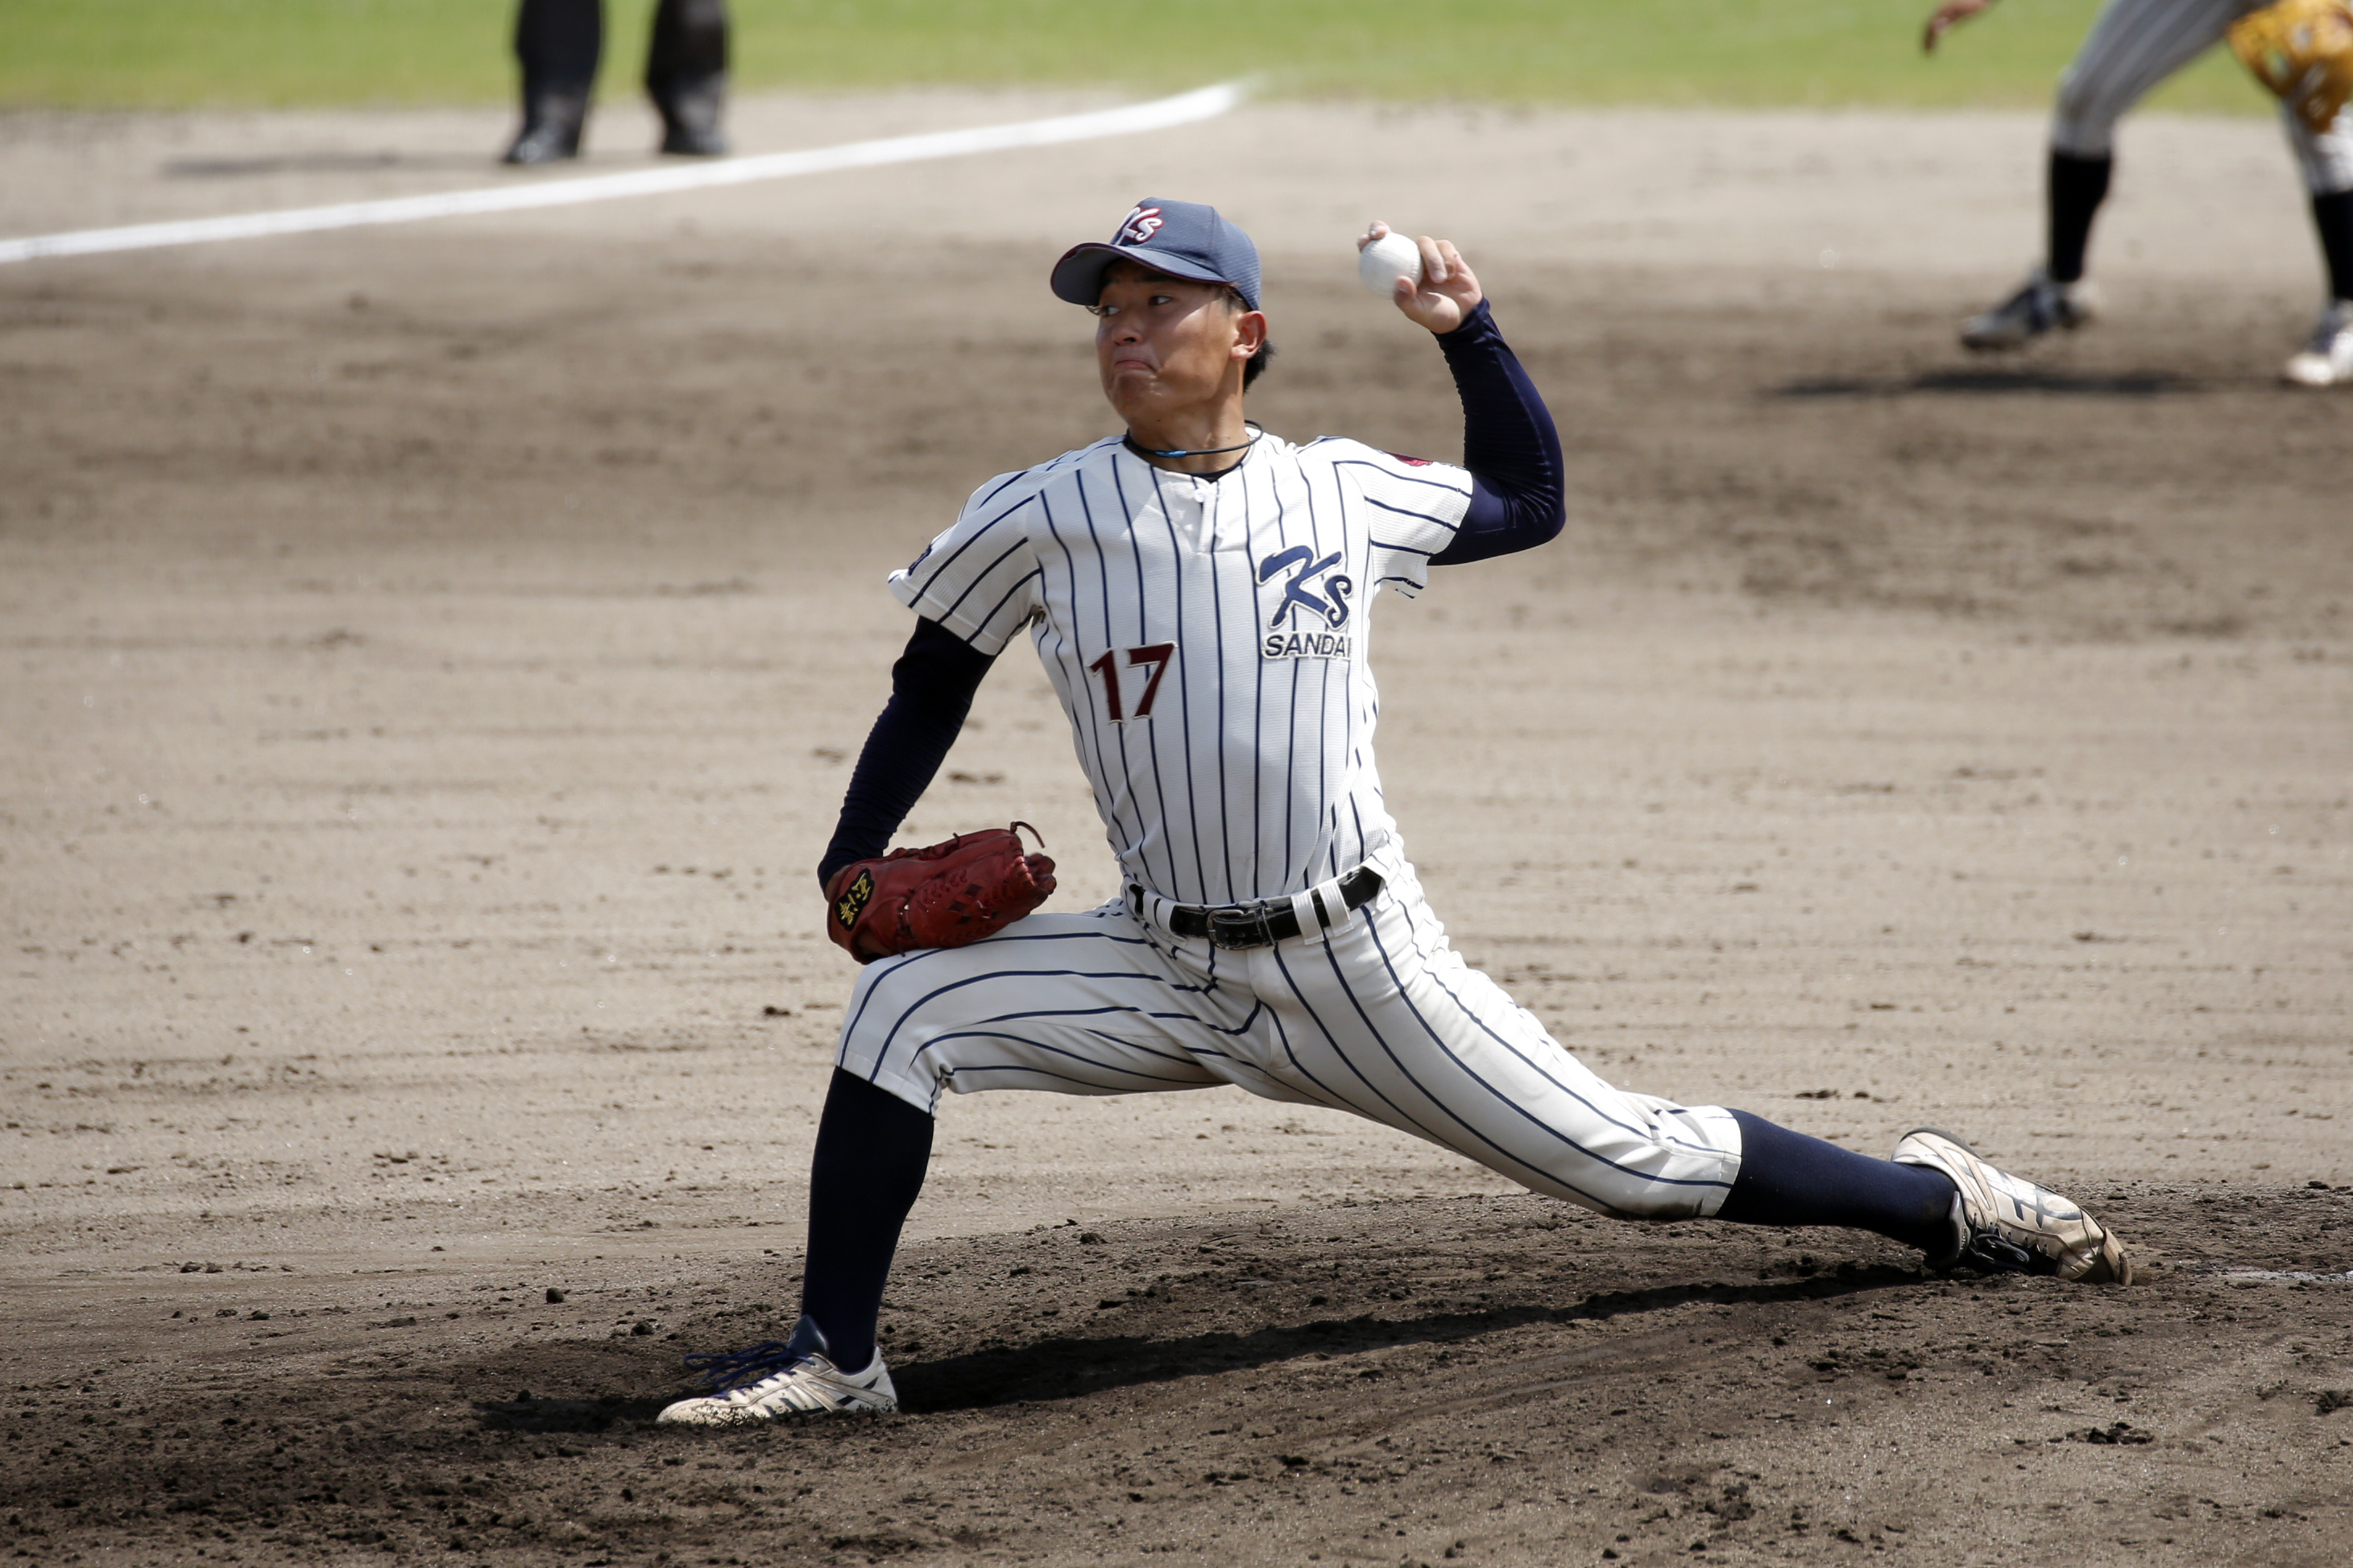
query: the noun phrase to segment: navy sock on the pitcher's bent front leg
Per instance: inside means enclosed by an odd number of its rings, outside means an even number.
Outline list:
[[[833,1070],[809,1161],[800,1314],[824,1331],[826,1354],[847,1373],[866,1371],[875,1356],[882,1284],[929,1161],[929,1112]]]

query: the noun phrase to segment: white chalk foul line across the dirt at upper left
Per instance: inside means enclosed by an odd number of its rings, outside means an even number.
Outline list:
[[[228,219],[188,219],[181,223],[132,223],[129,228],[80,228],[64,235],[0,240],[0,266],[42,256],[94,256],[99,252],[136,252],[162,244],[202,244],[207,240],[254,240],[259,235],[304,235],[320,228],[360,228],[365,223],[414,223],[416,219],[454,219],[480,212],[525,212],[532,207],[574,207],[579,202],[614,202],[628,195],[668,195],[673,190],[708,190],[711,186],[748,186],[758,179],[791,179],[833,169],[873,169],[925,158],[962,158],[967,153],[1002,153],[1007,148],[1042,148],[1056,141],[1089,141],[1127,132],[1155,132],[1169,125],[1212,120],[1242,101],[1238,82],[1221,82],[1174,99],[1099,108],[1085,115],[1024,120],[1019,125],[984,125],[962,132],[927,132],[922,136],[887,136],[849,141],[838,148],[805,153],[762,153],[727,158],[678,169],[642,169],[638,174],[595,174],[588,179],[546,181],[534,186],[496,186],[492,190],[445,190],[442,195],[400,195],[381,202],[339,202],[334,207],[289,207],[285,212],[247,212]]]

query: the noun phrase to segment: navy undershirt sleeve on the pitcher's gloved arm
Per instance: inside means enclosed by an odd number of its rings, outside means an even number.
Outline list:
[[[859,766],[849,773],[842,816],[816,865],[819,884],[852,860],[871,860],[889,849],[889,835],[899,832],[899,823],[932,788],[932,776],[972,712],[972,693],[993,663],[995,654],[981,654],[936,621],[915,623],[906,651],[889,668],[889,703],[866,733]]]

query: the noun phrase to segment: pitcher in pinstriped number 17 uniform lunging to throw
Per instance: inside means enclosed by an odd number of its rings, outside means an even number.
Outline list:
[[[1614,1088],[1447,945],[1381,804],[1365,628],[1447,567],[1544,545],[1565,510],[1560,437],[1480,280],[1454,244],[1417,249],[1393,301],[1454,374],[1461,468],[1245,416],[1273,353],[1259,254],[1212,207],[1146,197],[1054,266],[1122,430],[981,484],[889,578],[915,635],[819,870],[866,966],[816,1131],[800,1321],[689,1356],[711,1392],[664,1422],[896,1408],[875,1319],[948,1091],[1238,1084],[1624,1220],[1847,1225],[1934,1267],[2129,1279],[2094,1218],[1948,1133],[1868,1159]],[[1014,830],[882,856],[1021,635],[1125,882],[1080,914],[1031,912],[1052,863]]]

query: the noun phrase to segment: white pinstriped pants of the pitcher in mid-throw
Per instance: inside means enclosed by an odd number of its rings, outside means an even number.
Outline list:
[[[1247,952],[1108,903],[868,964],[835,1060],[929,1112],[944,1088],[1240,1084],[1631,1220],[1713,1215],[1741,1164],[1729,1112],[1612,1088],[1464,964],[1409,867],[1346,924]]]

